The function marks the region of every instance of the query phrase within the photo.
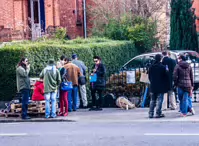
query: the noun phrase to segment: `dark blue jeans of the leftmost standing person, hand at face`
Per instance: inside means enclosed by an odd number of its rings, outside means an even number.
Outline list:
[[[22,89],[21,91],[22,94],[22,118],[27,117],[27,112],[28,112],[28,100],[30,97],[30,90],[29,89]]]

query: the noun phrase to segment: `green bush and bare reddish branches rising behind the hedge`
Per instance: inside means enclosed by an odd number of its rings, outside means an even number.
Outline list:
[[[165,0],[95,0],[88,8],[92,35],[130,39],[142,52],[148,51],[158,40],[166,42],[166,4]]]

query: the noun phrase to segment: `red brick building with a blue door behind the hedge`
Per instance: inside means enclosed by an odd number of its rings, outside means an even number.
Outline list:
[[[0,41],[36,39],[55,27],[84,36],[84,0],[0,0]]]

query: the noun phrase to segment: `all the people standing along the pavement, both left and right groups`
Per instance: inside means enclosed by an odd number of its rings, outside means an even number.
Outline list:
[[[71,59],[72,58],[72,59]],[[80,106],[80,97],[83,108],[88,107],[86,93],[86,72],[87,67],[83,61],[78,59],[77,54],[71,58],[62,55],[55,63],[53,59],[40,73],[40,80],[35,83],[32,100],[45,100],[45,117],[57,117],[57,98],[59,98],[60,110],[58,116],[67,116],[68,112],[76,111]],[[101,111],[103,105],[102,93],[105,89],[106,69],[99,56],[93,57],[94,65],[90,72],[90,89],[92,96],[92,107],[90,111]],[[28,101],[30,97],[30,64],[27,58],[22,58],[17,65],[17,90],[22,94],[22,118],[29,119],[27,114]],[[154,117],[156,107],[156,118],[165,117],[162,111],[165,99],[169,97],[172,110],[177,109],[174,90],[177,90],[179,112],[184,117],[190,112],[195,114],[192,107],[193,72],[192,67],[186,62],[186,57],[181,54],[178,61],[173,60],[169,52],[155,56],[155,62],[148,70],[150,81],[151,101],[149,118]],[[67,86],[64,88],[63,86]],[[96,97],[98,94],[98,98]],[[157,106],[156,106],[157,104]]]

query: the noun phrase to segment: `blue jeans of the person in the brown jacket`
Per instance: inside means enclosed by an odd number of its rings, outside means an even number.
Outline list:
[[[71,91],[68,91],[68,110],[74,111],[77,110],[77,101],[78,100],[78,86],[73,86]]]

